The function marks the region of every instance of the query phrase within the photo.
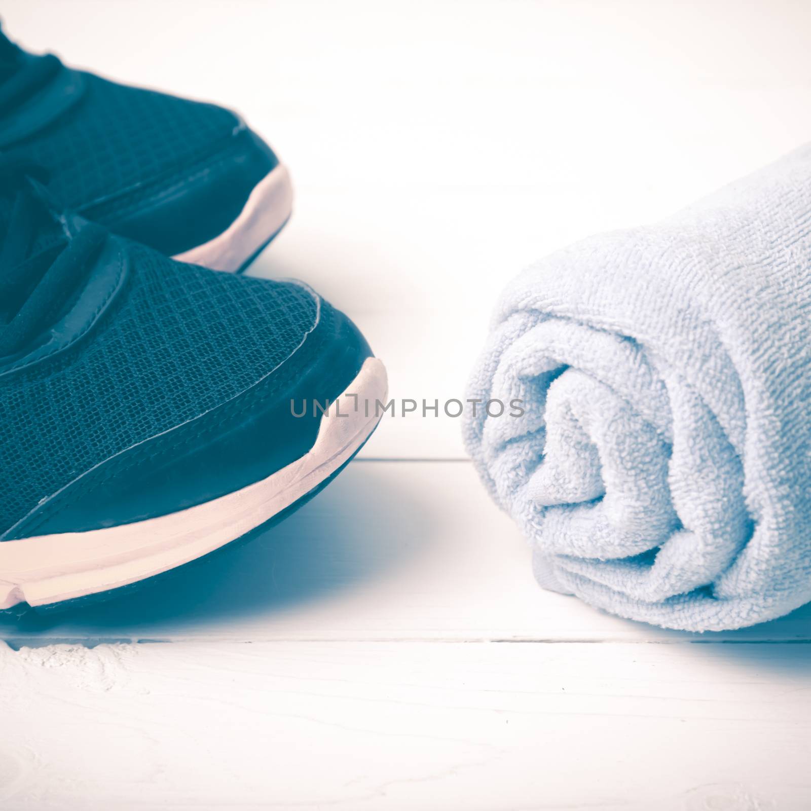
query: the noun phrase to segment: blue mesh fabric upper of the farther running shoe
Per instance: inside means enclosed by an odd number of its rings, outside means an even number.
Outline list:
[[[238,119],[220,107],[84,74],[79,102],[15,145],[51,171],[67,208],[147,182],[200,160],[230,138]]]

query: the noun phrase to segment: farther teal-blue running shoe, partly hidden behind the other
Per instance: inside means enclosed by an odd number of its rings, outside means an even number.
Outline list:
[[[35,56],[0,31],[0,152],[62,208],[185,262],[244,268],[290,217],[290,176],[241,118]]]

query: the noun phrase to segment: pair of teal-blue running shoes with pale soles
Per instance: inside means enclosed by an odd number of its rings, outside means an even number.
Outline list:
[[[354,324],[307,285],[238,273],[291,202],[229,110],[0,32],[0,608],[195,560],[371,435],[386,375]]]

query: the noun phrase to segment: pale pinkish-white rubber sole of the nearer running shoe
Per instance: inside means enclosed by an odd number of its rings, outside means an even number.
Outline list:
[[[379,422],[375,400],[385,401],[386,393],[383,363],[367,358],[322,416],[310,451],[268,478],[147,521],[0,543],[0,608],[49,605],[127,586],[241,538],[341,467]]]

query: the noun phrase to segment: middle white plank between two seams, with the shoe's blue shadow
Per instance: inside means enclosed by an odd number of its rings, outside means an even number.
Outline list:
[[[358,461],[251,543],[73,615],[0,615],[0,638],[809,641],[809,617],[691,635],[608,616],[539,589],[470,463]]]

